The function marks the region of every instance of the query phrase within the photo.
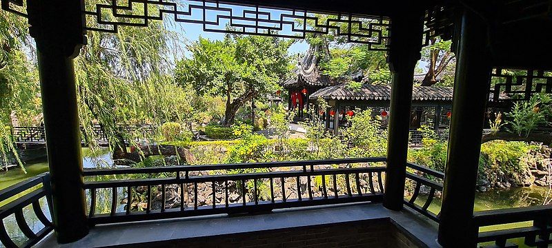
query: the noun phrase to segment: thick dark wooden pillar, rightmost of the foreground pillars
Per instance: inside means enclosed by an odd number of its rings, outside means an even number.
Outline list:
[[[475,182],[481,148],[485,105],[491,77],[487,27],[480,15],[463,10],[457,25],[457,62],[449,150],[440,214],[443,247],[475,247],[473,227]]]

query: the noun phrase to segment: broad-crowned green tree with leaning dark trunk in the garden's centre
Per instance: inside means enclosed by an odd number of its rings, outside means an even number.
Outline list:
[[[222,41],[200,38],[188,45],[191,58],[177,63],[177,82],[193,85],[198,94],[224,96],[224,125],[228,127],[240,107],[276,90],[289,69],[291,42],[241,35],[226,35]]]

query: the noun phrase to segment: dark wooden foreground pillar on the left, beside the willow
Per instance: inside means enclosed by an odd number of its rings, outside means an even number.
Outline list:
[[[52,218],[60,243],[76,241],[88,234],[73,68],[73,59],[85,41],[82,8],[82,1],[28,1],[30,35],[37,43],[52,177]]]

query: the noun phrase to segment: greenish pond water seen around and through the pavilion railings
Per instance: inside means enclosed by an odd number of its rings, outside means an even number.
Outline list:
[[[83,167],[86,168],[94,168],[97,167],[98,163],[106,163],[106,164],[112,164],[110,154],[104,150],[100,152],[100,154],[97,154],[97,156],[94,156],[94,154],[90,154],[90,151],[86,148],[83,148]],[[32,165],[27,165],[27,174],[21,173],[21,169],[19,168],[12,168],[8,172],[0,172],[0,189],[4,189],[10,185],[14,185],[15,183],[19,183],[22,180],[25,180],[26,178],[30,178],[32,176],[35,176],[37,174],[41,174],[43,172],[48,171],[48,163],[34,163]],[[110,193],[108,193],[110,194]],[[509,188],[509,189],[493,189],[488,192],[482,192],[476,194],[475,199],[475,211],[482,211],[482,210],[489,210],[489,209],[505,209],[510,207],[526,207],[531,205],[542,205],[546,200],[550,198],[548,196],[549,189],[547,187],[515,187],[515,188]],[[99,196],[100,198],[103,198]],[[106,195],[106,199],[110,198],[110,196]],[[422,204],[425,199],[424,197],[420,196],[418,198],[420,202],[417,202],[418,204]],[[433,203],[429,207],[430,211],[438,212],[441,206],[441,199],[437,198],[433,200]],[[45,213],[48,214],[48,205],[46,205],[46,200],[43,198],[41,199],[41,207]],[[123,207],[123,206],[119,206]],[[43,227],[43,225],[40,223],[40,221],[34,216],[34,213],[32,212],[32,207],[26,207],[26,209],[23,209],[24,214],[26,216],[27,223],[31,227],[33,231],[38,231]],[[15,221],[15,218],[13,216],[10,216],[11,218],[6,218],[4,220],[4,225],[6,226],[6,230],[8,231],[8,234],[12,237],[20,237],[21,240],[17,240],[19,242],[22,242],[26,240],[24,238],[23,234],[21,234],[21,231],[19,231],[19,227],[17,227],[17,223]],[[514,223],[510,225],[499,225],[499,226],[493,226],[493,227],[486,227],[482,228],[481,231],[489,231],[490,229],[504,229],[504,228],[511,228],[511,227],[523,227],[523,226],[529,226],[531,225],[531,222],[525,222],[525,223]],[[520,244],[522,244],[522,240],[520,240]],[[1,247],[1,245],[0,245]],[[523,246],[521,246],[523,247]]]

